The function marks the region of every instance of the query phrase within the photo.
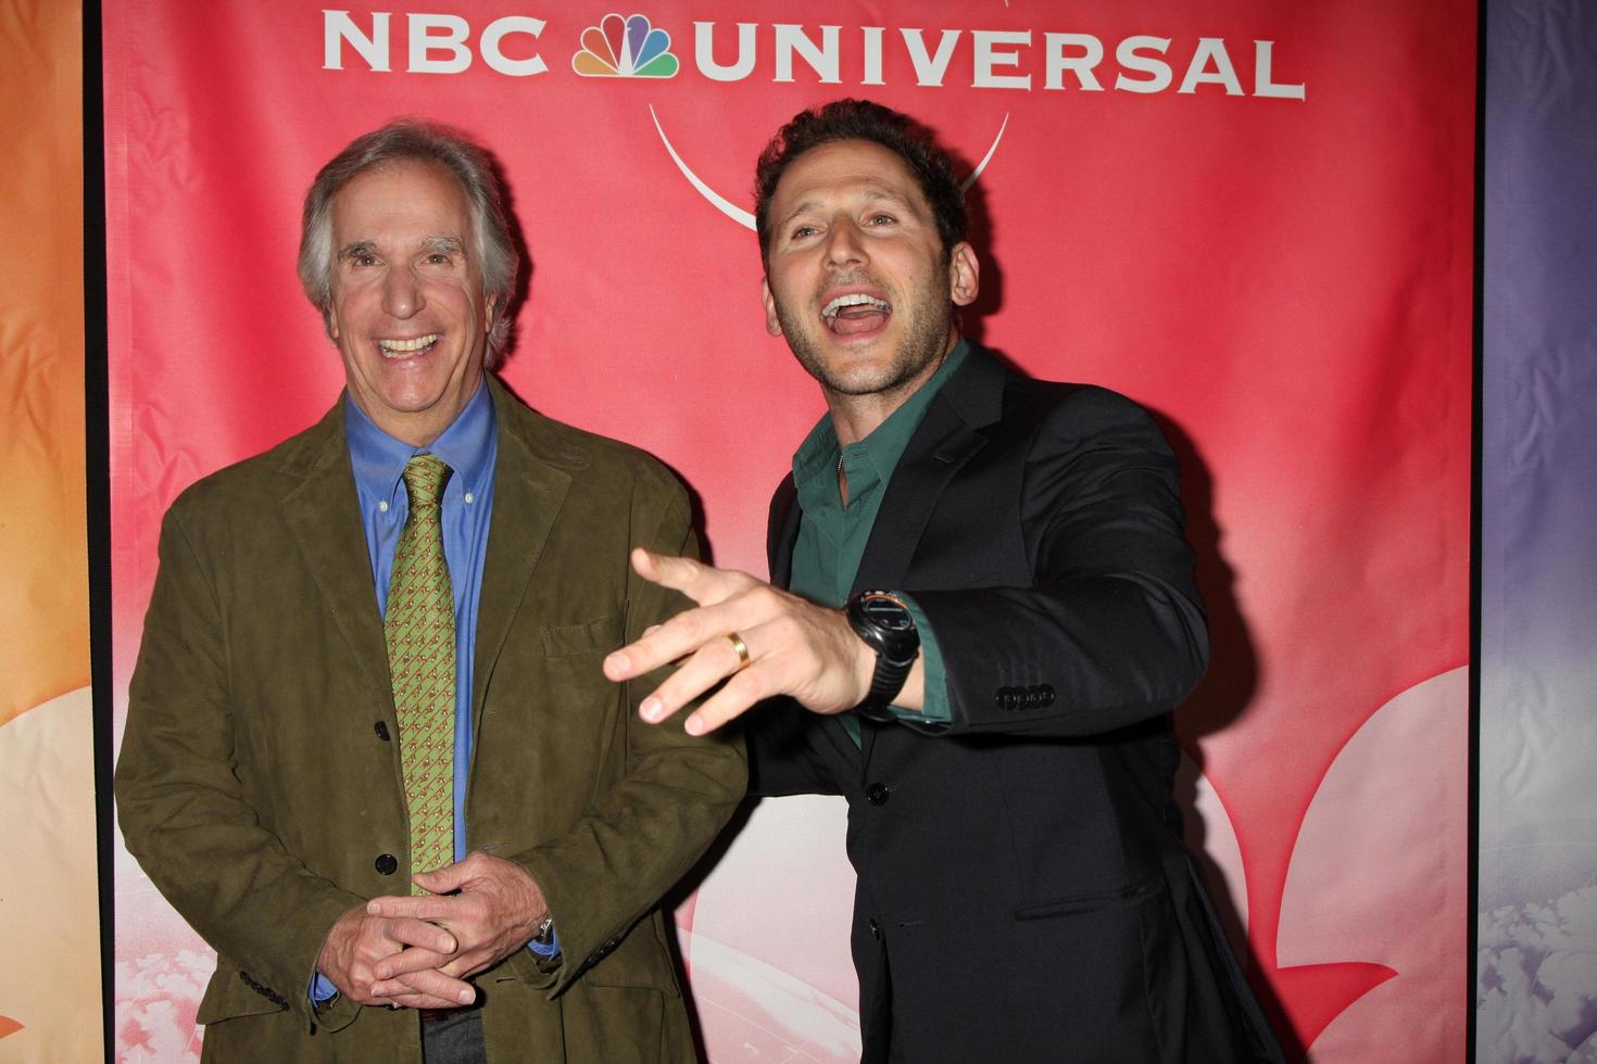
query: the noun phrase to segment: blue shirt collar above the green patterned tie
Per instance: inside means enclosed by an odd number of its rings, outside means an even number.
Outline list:
[[[382,499],[398,490],[406,463],[415,455],[438,455],[449,466],[454,483],[481,495],[493,475],[497,424],[485,376],[466,407],[430,447],[412,447],[388,435],[366,416],[348,391],[343,392],[343,435],[350,442],[355,482]]]

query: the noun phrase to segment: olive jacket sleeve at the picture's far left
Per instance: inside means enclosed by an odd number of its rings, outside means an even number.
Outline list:
[[[128,691],[117,812],[128,852],[262,999],[311,1023],[307,984],[327,928],[359,898],[310,873],[262,826],[236,775],[227,621],[174,504]],[[315,1016],[342,1026],[353,1008]]]

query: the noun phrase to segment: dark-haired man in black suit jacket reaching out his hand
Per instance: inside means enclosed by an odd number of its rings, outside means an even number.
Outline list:
[[[1209,641],[1169,447],[960,337],[979,262],[907,116],[797,115],[755,187],[767,325],[827,405],[771,504],[791,592],[636,552],[699,608],[607,672],[685,657],[652,721],[727,678],[692,734],[789,696],[752,788],[848,799],[866,1061],[1279,1059],[1172,802]]]

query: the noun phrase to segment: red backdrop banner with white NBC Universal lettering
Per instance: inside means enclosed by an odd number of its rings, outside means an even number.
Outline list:
[[[1474,3],[107,8],[118,691],[164,507],[337,397],[299,204],[394,115],[503,164],[533,262],[506,380],[668,461],[763,574],[821,400],[762,327],[752,163],[870,96],[979,171],[968,332],[1182,456],[1215,632],[1187,798],[1286,1038],[1463,1054]],[[192,1051],[203,948],[117,871],[121,1050]],[[679,917],[712,1059],[858,1054],[850,889],[835,806],[757,810]]]

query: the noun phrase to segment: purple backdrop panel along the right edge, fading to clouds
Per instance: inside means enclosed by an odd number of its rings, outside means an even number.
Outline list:
[[[1485,29],[1477,1059],[1597,1059],[1597,6]]]

